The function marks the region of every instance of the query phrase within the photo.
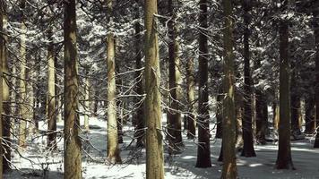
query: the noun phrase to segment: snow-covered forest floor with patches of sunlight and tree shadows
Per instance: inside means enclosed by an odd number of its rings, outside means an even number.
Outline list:
[[[47,124],[40,123],[42,130]],[[58,123],[58,130],[63,130],[63,122]],[[125,127],[124,143],[121,144],[122,165],[110,165],[106,162],[107,122],[96,118],[90,119],[91,131],[83,133],[82,153],[83,178],[133,178],[145,177],[145,150],[134,149],[132,143],[134,128]],[[40,132],[41,133],[41,132]],[[210,168],[196,168],[197,146],[193,140],[187,140],[183,134],[185,149],[174,157],[165,152],[165,178],[203,179],[220,178],[222,163],[217,161],[220,153],[220,140],[211,138]],[[276,170],[277,143],[255,146],[256,158],[240,157],[237,154],[238,175],[240,178],[319,178],[319,149],[313,148],[313,139],[292,141],[292,158],[296,170]],[[13,152],[13,171],[4,178],[63,178],[63,138],[58,137],[58,150],[46,149],[47,138],[33,136],[27,149]],[[16,148],[13,146],[13,148]]]

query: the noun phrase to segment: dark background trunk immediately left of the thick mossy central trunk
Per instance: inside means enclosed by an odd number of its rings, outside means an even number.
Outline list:
[[[135,0],[135,20],[140,19],[140,0]],[[137,80],[136,83],[136,93],[139,95],[136,98],[136,103],[138,107],[136,109],[135,114],[135,134],[136,137],[136,147],[143,147],[143,136],[144,132],[144,102],[142,95],[144,94],[143,91],[143,79],[142,79],[142,47],[141,47],[141,24],[140,21],[135,22],[135,65],[137,71],[135,72],[135,79]]]

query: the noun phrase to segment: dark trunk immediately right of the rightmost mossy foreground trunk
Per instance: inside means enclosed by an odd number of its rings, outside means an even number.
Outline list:
[[[243,116],[243,139],[244,149],[241,156],[246,158],[255,157],[254,141],[253,141],[253,128],[252,128],[252,83],[250,73],[250,52],[249,52],[249,24],[250,24],[250,9],[251,2],[244,1],[244,116]]]

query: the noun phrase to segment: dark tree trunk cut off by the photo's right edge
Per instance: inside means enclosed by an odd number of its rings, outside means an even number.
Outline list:
[[[319,7],[316,5],[314,14],[314,35],[315,35],[315,148],[319,148]]]

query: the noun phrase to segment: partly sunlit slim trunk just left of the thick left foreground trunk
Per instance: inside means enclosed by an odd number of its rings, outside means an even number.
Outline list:
[[[53,33],[49,30],[47,37],[47,148],[56,149],[56,64]]]

